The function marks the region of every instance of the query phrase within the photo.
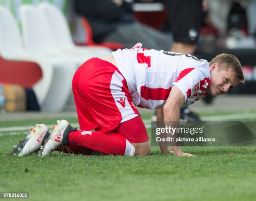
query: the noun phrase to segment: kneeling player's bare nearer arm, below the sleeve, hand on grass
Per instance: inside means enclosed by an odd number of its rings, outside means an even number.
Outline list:
[[[166,103],[163,108],[164,112],[164,121],[171,123],[172,127],[179,126],[179,118],[180,118],[180,108],[185,102],[185,97],[181,90],[175,85],[172,86],[172,90],[169,94],[169,97],[166,100]],[[172,138],[177,138],[178,133],[174,133],[172,136],[168,136]],[[190,153],[183,153],[180,146],[177,146],[175,143],[171,143],[172,150],[176,156],[193,156]]]

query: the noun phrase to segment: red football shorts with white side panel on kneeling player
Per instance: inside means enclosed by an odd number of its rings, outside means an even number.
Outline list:
[[[120,124],[123,118],[132,114],[139,115],[132,104],[125,78],[115,65],[105,60],[92,58],[82,64],[74,74],[72,89],[81,130],[100,128],[103,132],[113,131],[126,122]],[[141,122],[137,121],[139,126],[142,126]],[[143,129],[146,131],[144,124]],[[129,138],[133,140],[138,138],[139,142],[141,138],[148,140],[146,132],[142,133],[132,129],[126,135],[130,135]]]

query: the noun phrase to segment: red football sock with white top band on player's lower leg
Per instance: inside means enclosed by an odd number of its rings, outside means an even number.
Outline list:
[[[81,144],[94,151],[113,155],[134,155],[134,147],[123,136],[102,131],[73,131],[69,133],[69,144]]]

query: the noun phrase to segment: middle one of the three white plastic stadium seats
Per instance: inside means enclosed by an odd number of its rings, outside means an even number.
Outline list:
[[[48,25],[35,6],[21,5],[19,12],[26,50],[34,55],[43,55],[52,63],[59,64],[59,68],[54,70],[58,77],[54,79],[52,90],[49,94],[55,96],[56,100],[64,97],[65,104],[61,108],[63,110],[69,99],[73,98],[72,78],[79,67],[79,63],[75,62],[69,55],[61,54],[56,48]],[[52,103],[46,102],[45,104],[50,106]],[[74,103],[72,105],[74,108]]]

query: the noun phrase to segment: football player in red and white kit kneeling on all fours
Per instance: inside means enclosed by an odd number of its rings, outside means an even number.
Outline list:
[[[138,43],[106,58],[91,58],[79,67],[72,89],[81,130],[72,128],[66,120],[57,121],[44,141],[46,126],[37,125],[13,153],[25,156],[44,143],[41,156],[60,147],[73,153],[145,156],[151,145],[136,106],[158,109],[157,121],[179,122],[181,107],[207,93],[214,97],[227,93],[244,82],[241,64],[234,55],[223,53],[208,62],[141,46]],[[172,151],[167,146],[160,149],[176,156],[193,156],[183,153],[179,146],[172,146]]]

